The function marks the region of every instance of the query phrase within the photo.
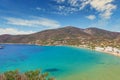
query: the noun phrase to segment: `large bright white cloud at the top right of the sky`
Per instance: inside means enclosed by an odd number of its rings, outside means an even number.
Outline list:
[[[80,9],[84,9],[85,6],[90,5],[93,9],[100,12],[100,16],[105,19],[109,19],[113,14],[113,10],[116,9],[116,5],[112,2],[114,0],[81,0],[82,5]]]

